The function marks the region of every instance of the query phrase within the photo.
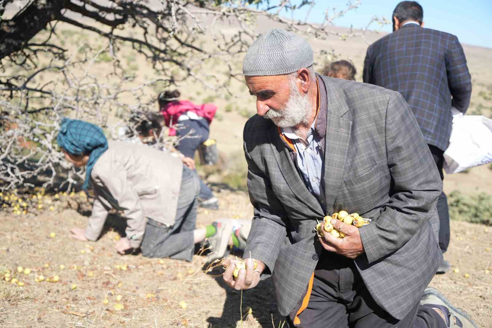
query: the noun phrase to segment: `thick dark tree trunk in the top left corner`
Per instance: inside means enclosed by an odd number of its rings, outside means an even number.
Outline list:
[[[36,0],[20,15],[0,22],[0,59],[22,50],[31,38],[57,20],[65,0]]]

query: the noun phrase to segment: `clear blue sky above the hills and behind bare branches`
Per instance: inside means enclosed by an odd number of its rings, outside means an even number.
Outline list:
[[[273,1],[272,1],[273,2]],[[298,1],[292,0],[292,3]],[[300,2],[300,1],[299,1]],[[355,2],[355,0],[353,1]],[[384,16],[391,21],[393,9],[399,0],[361,0],[357,11],[349,11],[345,16],[334,21],[336,26],[362,28],[372,16]],[[421,0],[424,8],[424,23],[426,28],[452,33],[458,36],[461,43],[492,48],[492,1],[491,0]],[[338,10],[346,8],[347,0],[316,0],[308,21],[321,22],[324,11],[329,6]],[[332,14],[333,11],[330,11]],[[295,19],[304,21],[307,6],[299,9]],[[282,14],[290,18],[290,13]],[[371,29],[379,29],[379,25],[371,25]],[[382,28],[392,32],[392,26]]]

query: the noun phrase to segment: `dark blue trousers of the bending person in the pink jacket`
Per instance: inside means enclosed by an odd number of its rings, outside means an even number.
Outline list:
[[[209,138],[209,122],[206,119],[201,120],[186,120],[179,124],[183,125],[181,129],[176,131],[179,138],[176,149],[184,156],[194,158],[198,146]],[[200,195],[201,200],[207,200],[214,197],[212,190],[200,179]]]

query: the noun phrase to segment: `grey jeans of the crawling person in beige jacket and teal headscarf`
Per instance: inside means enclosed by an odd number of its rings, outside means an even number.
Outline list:
[[[195,172],[183,165],[176,221],[167,227],[152,218],[142,240],[142,255],[148,258],[168,258],[191,262],[195,243],[193,233],[196,227],[197,198],[200,180]],[[162,204],[165,206],[166,204]]]

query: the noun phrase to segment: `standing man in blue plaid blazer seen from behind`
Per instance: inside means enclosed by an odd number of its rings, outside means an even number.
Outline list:
[[[444,151],[448,147],[453,116],[451,107],[466,112],[471,77],[455,35],[424,28],[424,11],[415,1],[402,1],[393,11],[393,33],[369,46],[364,82],[395,90],[405,98],[424,134],[443,179]],[[439,247],[449,245],[449,210],[446,195],[437,201]],[[449,270],[442,260],[437,273]]]

